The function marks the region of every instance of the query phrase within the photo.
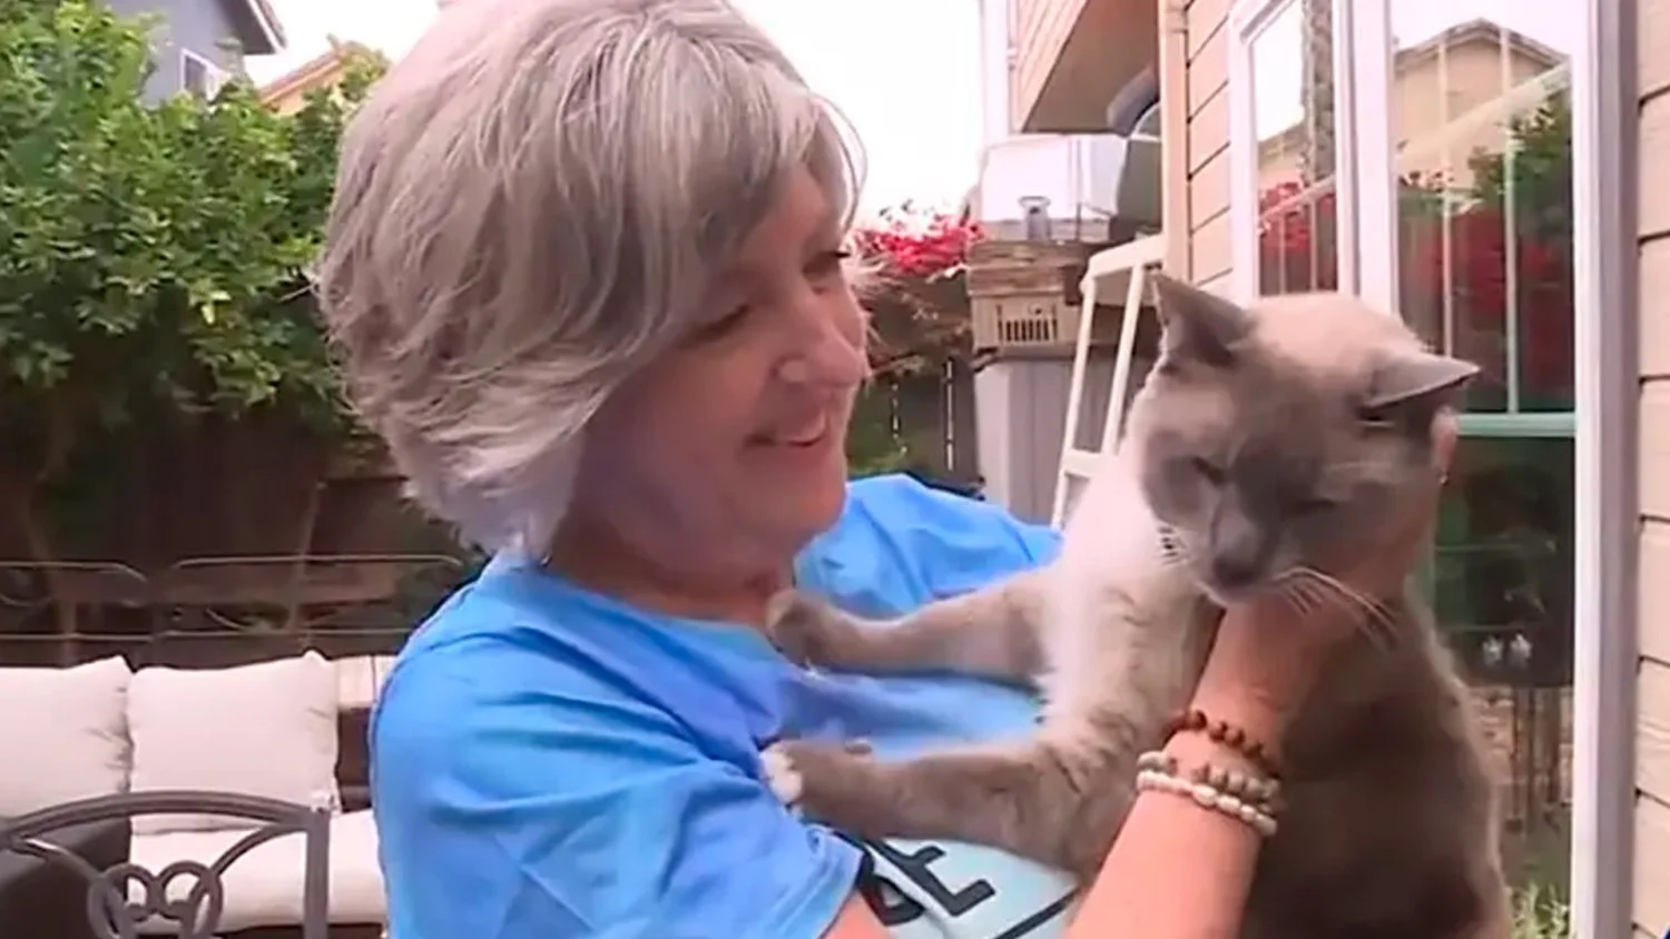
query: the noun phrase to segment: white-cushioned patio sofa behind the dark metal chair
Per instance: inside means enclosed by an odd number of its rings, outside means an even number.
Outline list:
[[[374,939],[384,896],[366,729],[391,665],[389,655],[332,660],[309,652],[225,669],[135,672],[120,657],[0,669],[0,712],[53,716],[0,722],[0,819],[122,792],[225,792],[314,806],[329,827],[329,937]],[[235,819],[164,809],[72,829],[62,841],[97,869],[132,862],[160,871],[212,866],[247,836]],[[301,841],[279,837],[227,876],[217,936],[301,936]],[[92,937],[84,897],[78,879],[57,866],[0,851],[0,936]],[[165,926],[149,919],[140,932]]]

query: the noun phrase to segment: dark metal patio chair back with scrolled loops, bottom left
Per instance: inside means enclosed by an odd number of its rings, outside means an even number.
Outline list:
[[[224,816],[266,824],[250,829],[210,864],[180,859],[160,871],[149,871],[127,861],[100,871],[73,849],[52,841],[53,832],[77,826],[162,814]],[[78,874],[87,886],[87,922],[99,939],[137,939],[140,926],[152,917],[175,924],[179,939],[214,939],[225,907],[222,881],[225,871],[252,849],[296,832],[306,841],[301,937],[327,939],[329,809],[230,792],[152,791],[97,796],[0,819],[0,854],[37,857]],[[189,881],[182,881],[185,877]],[[180,886],[185,882],[190,886],[182,896]]]

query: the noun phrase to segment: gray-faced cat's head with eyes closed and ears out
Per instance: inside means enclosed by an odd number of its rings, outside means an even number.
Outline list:
[[[1433,419],[1478,369],[1341,294],[1241,307],[1156,282],[1161,357],[1132,404],[1149,507],[1219,602],[1333,564],[1409,510]]]

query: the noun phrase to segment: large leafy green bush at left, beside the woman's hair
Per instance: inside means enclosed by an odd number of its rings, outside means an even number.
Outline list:
[[[47,482],[140,417],[282,410],[339,427],[304,269],[346,110],[292,115],[234,80],[142,100],[150,23],[0,0],[0,474]]]

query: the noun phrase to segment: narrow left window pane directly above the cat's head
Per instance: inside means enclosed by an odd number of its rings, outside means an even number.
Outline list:
[[[1333,2],[1294,0],[1252,40],[1259,294],[1339,287]]]

